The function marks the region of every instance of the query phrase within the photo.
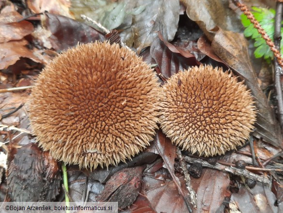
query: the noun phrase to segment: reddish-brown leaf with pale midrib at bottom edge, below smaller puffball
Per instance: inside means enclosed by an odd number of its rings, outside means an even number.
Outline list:
[[[191,178],[197,194],[194,213],[217,212],[221,207],[230,179],[227,173],[213,169],[204,169],[199,179]]]

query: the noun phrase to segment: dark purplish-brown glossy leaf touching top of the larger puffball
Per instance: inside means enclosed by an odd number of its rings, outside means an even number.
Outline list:
[[[80,43],[103,41],[104,35],[84,23],[66,16],[45,13],[45,26],[52,33],[49,40],[52,48],[65,50]]]

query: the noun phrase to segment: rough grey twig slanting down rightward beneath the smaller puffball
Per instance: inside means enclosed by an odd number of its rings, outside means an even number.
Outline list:
[[[271,184],[271,181],[268,178],[251,173],[246,169],[238,169],[233,166],[225,166],[225,165],[218,164],[218,163],[216,163],[215,165],[211,165],[207,161],[196,159],[196,158],[191,158],[189,156],[184,156],[184,159],[186,162],[191,163],[191,164],[199,163],[199,164],[202,164],[202,166],[204,167],[209,167],[209,168],[217,169],[220,171],[229,172],[234,175],[241,175],[245,178],[250,178],[252,180],[259,181],[264,184],[268,184],[268,185]]]

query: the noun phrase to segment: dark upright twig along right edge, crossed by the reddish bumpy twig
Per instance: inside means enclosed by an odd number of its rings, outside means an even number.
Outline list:
[[[281,42],[281,20],[282,20],[283,2],[277,1],[276,3],[276,15],[275,15],[275,30],[274,30],[274,44],[276,49],[280,52],[280,42]],[[278,101],[278,117],[281,125],[281,130],[283,131],[283,94],[281,88],[281,73],[282,65],[277,58],[274,59],[274,86],[277,94]]]

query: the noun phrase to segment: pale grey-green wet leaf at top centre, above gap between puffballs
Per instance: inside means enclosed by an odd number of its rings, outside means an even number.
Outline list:
[[[125,30],[124,34],[133,33],[134,48],[139,53],[141,49],[148,47],[157,37],[160,31],[166,41],[173,40],[179,21],[179,1],[176,0],[143,0],[129,1],[128,7],[138,8],[144,6],[145,9],[133,17],[132,26]],[[124,35],[123,34],[123,35]],[[122,41],[131,37],[122,37]]]

